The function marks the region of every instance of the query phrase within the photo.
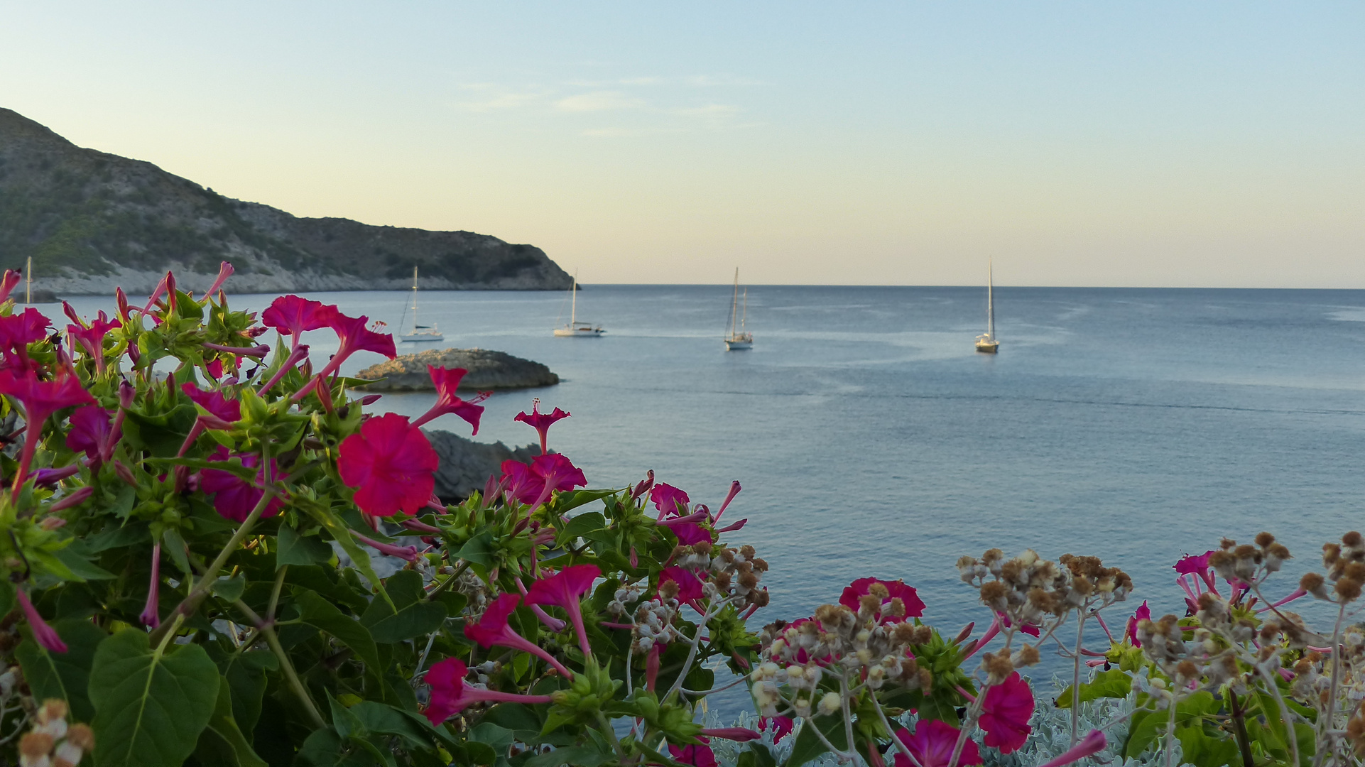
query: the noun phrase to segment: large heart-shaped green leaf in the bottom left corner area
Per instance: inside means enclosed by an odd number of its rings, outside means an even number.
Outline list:
[[[176,767],[198,744],[221,677],[198,644],[171,648],[154,651],[147,635],[124,629],[96,650],[90,701],[100,767]]]

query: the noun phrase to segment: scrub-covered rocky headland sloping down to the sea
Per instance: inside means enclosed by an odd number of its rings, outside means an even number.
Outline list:
[[[81,149],[0,109],[0,267],[33,258],[34,288],[147,292],[167,269],[202,291],[231,261],[238,292],[568,289],[538,247],[472,232],[299,218],[225,198],[150,162]]]

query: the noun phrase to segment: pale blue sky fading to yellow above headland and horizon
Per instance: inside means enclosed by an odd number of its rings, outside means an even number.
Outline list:
[[[1365,288],[1365,4],[0,0],[0,106],[584,283]]]

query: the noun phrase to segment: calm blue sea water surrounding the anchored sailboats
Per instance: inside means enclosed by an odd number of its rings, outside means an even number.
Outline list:
[[[311,298],[390,325],[405,300]],[[579,317],[602,338],[551,336],[562,293],[425,292],[422,311],[445,345],[562,378],[494,396],[479,439],[531,442],[512,416],[539,396],[573,414],[550,444],[594,486],[652,468],[715,508],[738,479],[726,517],[749,524],[730,540],[771,565],[758,618],[808,616],[871,575],[917,587],[925,620],[956,633],[984,611],[954,562],[992,546],[1102,557],[1133,576],[1132,606],[1181,611],[1183,553],[1269,530],[1298,557],[1272,588],[1287,592],[1324,540],[1365,521],[1365,291],[1005,287],[995,356],[972,347],[984,298],[752,287],[747,352],[721,343],[729,287],[588,287]],[[311,336],[325,359],[334,341]],[[378,407],[416,415],[431,401]],[[435,426],[468,435],[453,416]]]

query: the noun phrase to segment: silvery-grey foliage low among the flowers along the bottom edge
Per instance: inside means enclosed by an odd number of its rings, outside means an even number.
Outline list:
[[[1029,722],[1033,726],[1033,732],[1029,734],[1028,741],[1024,748],[1016,751],[1014,753],[1001,753],[994,748],[986,747],[981,740],[984,733],[977,730],[973,733],[973,740],[976,740],[977,747],[981,752],[983,767],[1032,767],[1035,764],[1043,764],[1057,756],[1061,756],[1072,747],[1072,711],[1070,708],[1058,708],[1054,701],[1062,696],[1062,692],[1070,686],[1067,680],[1061,677],[1052,677],[1052,693],[1037,696],[1037,708],[1033,711],[1033,719]],[[1087,759],[1076,762],[1076,767],[1164,767],[1166,766],[1166,740],[1158,738],[1156,744],[1147,752],[1138,755],[1137,757],[1123,759],[1121,752],[1123,751],[1123,741],[1127,738],[1127,719],[1126,717],[1133,712],[1134,696],[1129,695],[1125,699],[1102,697],[1097,700],[1091,700],[1081,703],[1080,714],[1080,732],[1088,733],[1095,729],[1100,729],[1103,725],[1114,722],[1114,719],[1123,718],[1123,721],[1110,725],[1104,734],[1108,738],[1108,745],[1104,751],[1095,753]],[[900,723],[905,726],[912,726],[915,723],[915,717],[906,714],[900,718]],[[707,727],[719,727],[721,721],[715,714],[706,717]],[[741,714],[738,719],[734,721],[736,727],[749,727],[756,730],[759,726],[759,718],[755,714]],[[801,732],[801,723],[797,722],[796,730],[782,738],[782,742],[773,744],[773,733],[763,733],[762,742],[771,747],[773,755],[777,757],[778,764],[786,762],[786,757],[792,755],[792,744],[796,742],[796,734]],[[713,740],[711,751],[715,753],[715,760],[721,767],[733,767],[738,760],[740,753],[748,748],[747,744]],[[1181,744],[1175,741],[1175,760],[1174,764],[1181,764],[1182,767],[1189,767],[1181,762]],[[886,755],[887,764],[891,764],[894,753]],[[807,763],[809,767],[838,767],[838,760],[834,756],[826,753],[820,759]]]

